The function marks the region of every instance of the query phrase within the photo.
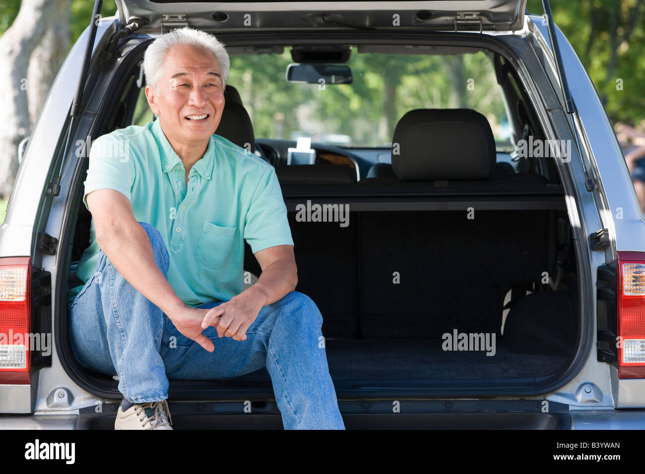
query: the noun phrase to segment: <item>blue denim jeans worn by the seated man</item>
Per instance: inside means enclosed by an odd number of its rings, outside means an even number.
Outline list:
[[[152,225],[155,262],[168,277],[168,250]],[[197,308],[213,308],[207,302]],[[119,376],[119,391],[132,402],[168,398],[168,379],[233,379],[266,366],[285,429],[337,429],[344,424],[327,366],[323,317],[303,293],[291,291],[263,306],[246,340],[203,331],[215,346],[188,339],[99,252],[94,275],[70,304],[72,350],[86,368]]]

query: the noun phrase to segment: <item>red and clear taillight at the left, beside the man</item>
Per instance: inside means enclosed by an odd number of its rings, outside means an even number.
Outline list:
[[[30,260],[0,258],[0,384],[31,381]]]

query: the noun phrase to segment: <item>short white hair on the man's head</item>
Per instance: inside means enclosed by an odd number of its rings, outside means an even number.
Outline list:
[[[210,51],[219,64],[219,72],[222,74],[222,86],[226,87],[231,62],[226,49],[224,49],[224,44],[211,34],[184,26],[184,28],[177,28],[157,37],[148,46],[143,55],[143,72],[146,75],[146,83],[155,92],[159,93],[159,84],[164,75],[163,66],[166,55],[177,44],[190,44]]]

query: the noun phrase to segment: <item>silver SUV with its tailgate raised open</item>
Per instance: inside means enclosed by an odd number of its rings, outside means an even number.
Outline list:
[[[645,426],[645,225],[548,1],[382,4],[117,0],[88,26],[0,227],[0,428],[114,424],[68,329],[87,155],[154,119],[144,51],[186,25],[232,59],[216,133],[275,166],[346,428]],[[178,429],[282,426],[266,370],[169,400]]]

